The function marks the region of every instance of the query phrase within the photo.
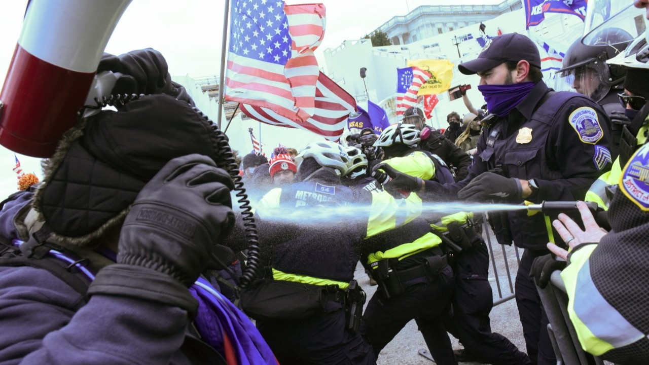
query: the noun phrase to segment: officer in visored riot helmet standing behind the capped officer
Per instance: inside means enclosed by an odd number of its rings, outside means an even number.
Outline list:
[[[622,127],[630,120],[617,100],[617,94],[622,92],[624,69],[606,61],[624,51],[633,37],[622,29],[609,28],[600,31],[595,38],[598,39],[595,45],[585,45],[581,38],[574,41],[563,57],[563,68],[557,73],[561,73],[563,79],[570,77],[576,92],[591,97],[604,108],[611,120],[607,127],[611,130],[611,157],[615,159],[619,153]]]

